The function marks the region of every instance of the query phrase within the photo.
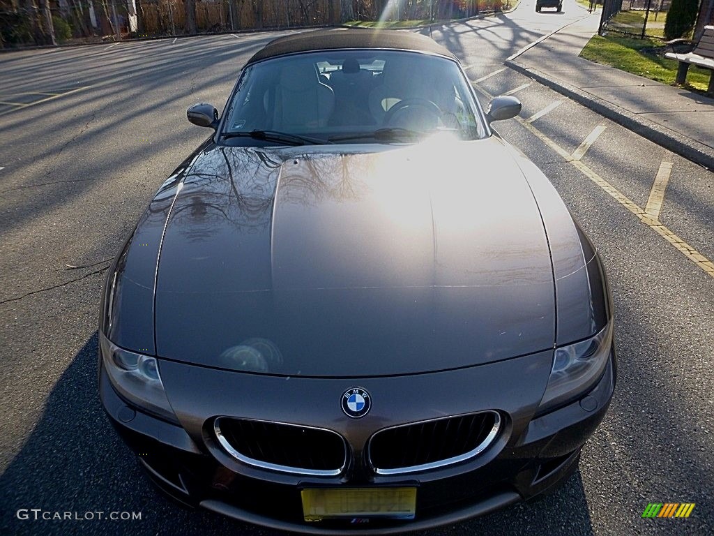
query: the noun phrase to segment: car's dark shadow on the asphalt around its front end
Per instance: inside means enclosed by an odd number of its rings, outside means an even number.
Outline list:
[[[97,333],[59,378],[20,452],[0,477],[0,532],[12,535],[284,535],[165,499],[119,440],[99,402]],[[141,520],[20,520],[19,509],[44,512],[141,512]],[[33,514],[30,512],[30,516]],[[456,535],[590,535],[579,472],[536,502],[448,527]],[[442,532],[441,530],[432,533]]]

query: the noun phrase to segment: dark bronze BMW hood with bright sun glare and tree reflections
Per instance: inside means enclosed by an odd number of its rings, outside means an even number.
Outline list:
[[[553,348],[548,242],[503,142],[374,147],[204,150],[161,242],[156,353],[367,377]]]

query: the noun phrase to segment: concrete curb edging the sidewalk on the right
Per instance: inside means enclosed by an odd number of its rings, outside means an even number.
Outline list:
[[[700,166],[714,170],[714,149],[705,144],[696,142],[695,140],[679,134],[666,126],[657,124],[649,119],[644,119],[633,114],[617,104],[613,104],[605,99],[600,99],[598,96],[571,86],[566,82],[560,81],[548,74],[545,74],[538,69],[527,67],[519,64],[517,61],[507,59],[503,62],[507,67],[521,74],[528,76],[535,81],[540,82],[544,86],[548,86],[554,91],[558,91],[561,95],[567,96],[591,110],[597,112],[601,116],[615,121],[615,123],[624,126],[626,129],[639,134],[641,137],[654,142],[655,144],[669,149],[671,152],[679,154],[685,159],[691,160]]]

